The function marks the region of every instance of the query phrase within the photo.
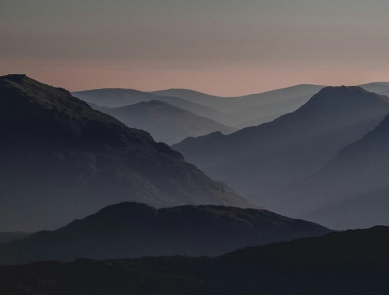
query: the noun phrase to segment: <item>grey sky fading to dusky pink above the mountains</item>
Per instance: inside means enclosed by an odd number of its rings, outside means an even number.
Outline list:
[[[0,0],[0,75],[243,95],[389,81],[388,0]]]

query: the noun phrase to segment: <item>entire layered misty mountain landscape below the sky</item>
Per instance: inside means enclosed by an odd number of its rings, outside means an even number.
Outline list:
[[[388,294],[387,95],[0,76],[0,294]]]

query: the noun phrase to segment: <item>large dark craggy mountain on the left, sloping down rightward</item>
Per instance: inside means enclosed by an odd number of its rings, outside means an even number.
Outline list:
[[[142,130],[63,88],[0,77],[0,230],[63,226],[122,201],[251,207]]]

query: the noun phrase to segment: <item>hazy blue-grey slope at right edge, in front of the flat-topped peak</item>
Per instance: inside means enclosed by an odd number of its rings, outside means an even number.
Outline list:
[[[279,192],[271,207],[335,228],[389,225],[388,147],[389,115],[318,173]]]

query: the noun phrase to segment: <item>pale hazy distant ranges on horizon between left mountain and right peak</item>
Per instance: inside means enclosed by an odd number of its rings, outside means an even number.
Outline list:
[[[89,104],[108,107],[158,100],[213,121],[242,128],[271,121],[297,109],[322,87],[297,85],[241,97],[218,97],[189,89],[142,92],[133,89],[105,88],[77,91],[72,94]]]

